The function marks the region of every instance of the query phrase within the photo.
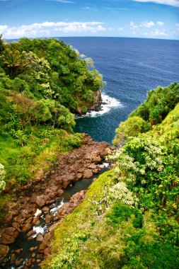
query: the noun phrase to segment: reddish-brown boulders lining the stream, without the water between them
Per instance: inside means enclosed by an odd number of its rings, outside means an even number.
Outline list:
[[[85,136],[81,147],[74,149],[71,154],[60,156],[55,168],[30,181],[23,188],[16,189],[16,193],[23,195],[23,198],[18,200],[15,206],[9,208],[5,219],[1,219],[0,263],[2,266],[7,262],[15,265],[16,268],[22,265],[23,259],[18,258],[18,253],[21,253],[23,249],[9,251],[9,248],[21,233],[26,233],[28,240],[32,239],[30,236],[34,233],[33,226],[40,222],[42,214],[45,223],[49,226],[45,234],[39,233],[35,237],[40,245],[29,249],[32,256],[25,262],[24,268],[31,268],[32,263],[40,263],[42,258],[50,253],[50,240],[54,228],[83,200],[85,191],[73,195],[70,201],[64,203],[55,214],[50,213],[52,204],[60,198],[63,188],[75,181],[91,178],[99,173],[102,168],[101,162],[113,149],[106,142],[94,142],[91,137]],[[39,214],[37,210],[40,210]]]

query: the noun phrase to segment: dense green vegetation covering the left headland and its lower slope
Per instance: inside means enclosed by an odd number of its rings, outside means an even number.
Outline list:
[[[0,191],[6,183],[11,193],[79,147],[72,113],[86,112],[103,87],[92,63],[59,40],[4,43],[0,35]]]

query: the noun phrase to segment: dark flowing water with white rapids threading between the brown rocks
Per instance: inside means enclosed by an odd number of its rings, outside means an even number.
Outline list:
[[[101,173],[104,173],[108,170],[108,163],[103,162],[101,164],[101,171],[98,173],[98,175],[92,176],[91,178],[84,178],[82,181],[76,181],[74,184],[70,185],[67,188],[64,188],[64,193],[61,195],[59,199],[57,199],[52,205],[50,205],[50,212],[48,214],[56,214],[57,211],[64,205],[65,202],[69,202],[72,195],[75,193],[79,193],[80,190],[87,190],[89,185],[91,185],[94,178],[99,176]],[[37,209],[35,212],[35,216],[38,214],[41,214],[42,211],[40,209]],[[52,222],[46,224],[45,223],[45,214],[42,213],[40,216],[40,223],[33,226],[33,234],[31,236],[28,236],[27,233],[21,233],[18,238],[16,239],[15,243],[11,245],[10,252],[9,252],[9,259],[4,268],[6,269],[16,269],[16,266],[10,264],[10,258],[12,253],[16,253],[17,250],[23,248],[21,253],[18,255],[16,254],[16,260],[23,260],[21,263],[21,266],[18,268],[24,268],[25,262],[28,261],[28,259],[31,258],[32,253],[35,253],[35,256],[37,255],[37,249],[38,246],[40,246],[41,242],[36,241],[37,234],[44,235],[48,231],[48,227],[52,225]],[[30,240],[29,240],[30,239]],[[29,251],[30,248],[35,248],[33,251]],[[0,267],[1,268],[1,267]],[[33,268],[39,268],[38,263],[35,261],[33,263]]]

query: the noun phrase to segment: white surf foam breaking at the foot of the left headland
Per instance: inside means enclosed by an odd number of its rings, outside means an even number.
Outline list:
[[[101,97],[103,102],[101,105],[101,109],[99,111],[90,111],[86,113],[86,115],[84,115],[83,117],[97,117],[98,115],[108,113],[111,108],[122,107],[122,103],[120,103],[120,101],[118,101],[114,97],[110,97],[105,93],[102,93]]]

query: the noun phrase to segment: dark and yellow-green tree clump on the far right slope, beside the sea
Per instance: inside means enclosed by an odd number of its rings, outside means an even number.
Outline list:
[[[120,123],[113,144],[125,144],[127,138],[148,132],[154,125],[161,123],[178,102],[179,84],[176,82],[166,88],[159,86],[156,90],[149,91],[146,101],[125,122]]]

